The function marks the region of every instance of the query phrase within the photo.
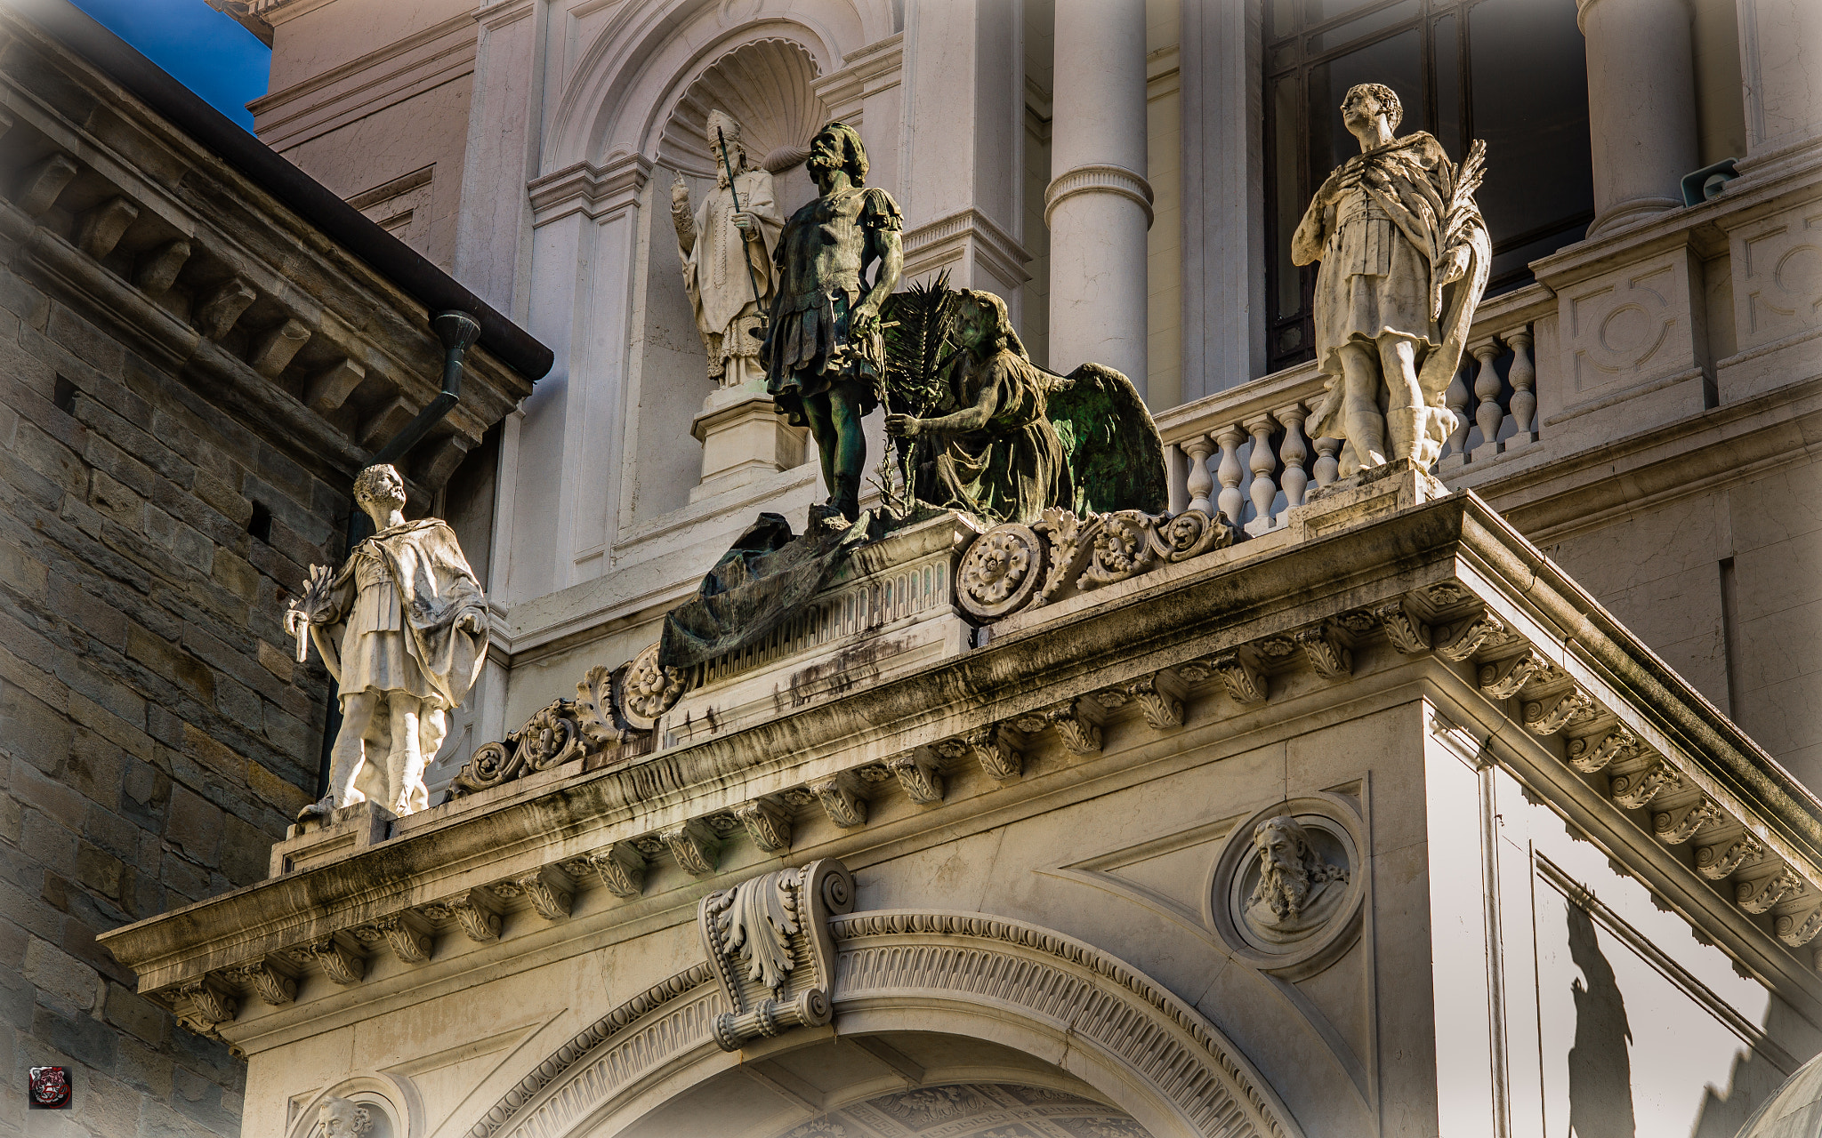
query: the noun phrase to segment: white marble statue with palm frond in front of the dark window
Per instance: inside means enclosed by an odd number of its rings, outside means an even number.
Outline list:
[[[1394,138],[1397,95],[1361,84],[1341,100],[1361,153],[1310,198],[1290,253],[1319,260],[1315,359],[1328,390],[1310,437],[1346,441],[1341,475],[1410,459],[1428,470],[1456,428],[1443,395],[1487,288],[1492,244],[1474,189],[1485,144],[1458,168],[1423,131]]]

